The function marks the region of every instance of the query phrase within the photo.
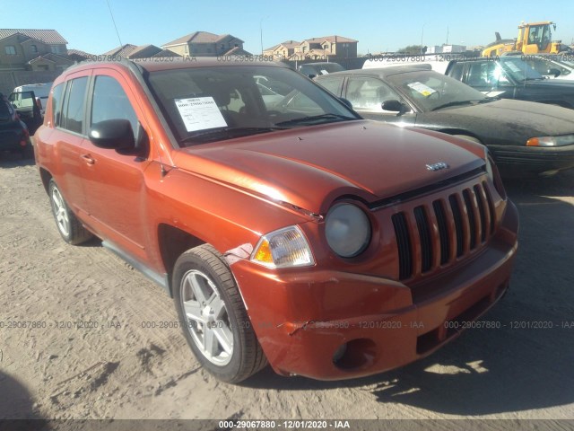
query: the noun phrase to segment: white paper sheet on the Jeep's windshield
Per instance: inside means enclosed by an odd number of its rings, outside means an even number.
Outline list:
[[[227,126],[213,97],[194,97],[175,101],[188,132]]]

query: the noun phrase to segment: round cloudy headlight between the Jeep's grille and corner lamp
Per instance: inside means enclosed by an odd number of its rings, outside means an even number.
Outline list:
[[[325,234],[331,250],[342,258],[352,258],[369,245],[369,218],[355,205],[336,205],[326,215]]]

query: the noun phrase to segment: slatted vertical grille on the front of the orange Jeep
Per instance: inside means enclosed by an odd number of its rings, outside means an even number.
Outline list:
[[[494,215],[485,182],[394,214],[399,279],[429,273],[480,248],[494,232]]]

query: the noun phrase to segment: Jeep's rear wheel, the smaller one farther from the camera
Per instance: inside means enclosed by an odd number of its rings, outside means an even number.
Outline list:
[[[54,220],[56,220],[57,231],[64,241],[68,244],[77,245],[90,240],[93,235],[74,216],[70,207],[65,203],[56,181],[53,179],[50,180],[48,185],[48,195],[52,214],[54,215]]]

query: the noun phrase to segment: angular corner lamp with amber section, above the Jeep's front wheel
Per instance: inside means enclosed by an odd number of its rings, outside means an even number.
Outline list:
[[[251,261],[267,268],[308,267],[315,264],[305,235],[298,226],[267,233],[257,242]]]

